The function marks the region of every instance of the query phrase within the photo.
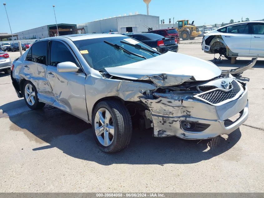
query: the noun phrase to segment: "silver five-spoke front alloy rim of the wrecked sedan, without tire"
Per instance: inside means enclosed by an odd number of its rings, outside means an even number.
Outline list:
[[[103,146],[109,146],[114,140],[115,127],[111,113],[105,109],[100,108],[95,114],[94,118],[95,134]]]

